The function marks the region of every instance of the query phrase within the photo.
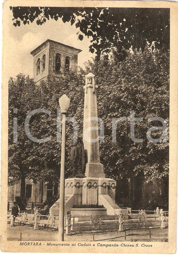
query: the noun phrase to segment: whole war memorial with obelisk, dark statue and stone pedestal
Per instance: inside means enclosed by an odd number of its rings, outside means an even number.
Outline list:
[[[79,149],[77,150],[80,164],[74,166],[74,175],[65,180],[65,214],[68,211],[71,211],[71,215],[80,216],[91,215],[91,212],[92,215],[116,215],[121,212],[120,207],[115,203],[116,181],[105,178],[103,164],[100,163],[97,89],[95,75],[89,73],[86,75],[83,87],[83,141],[78,138],[78,144],[71,149],[72,155],[76,154],[75,148]],[[59,215],[59,200],[50,208],[51,215]],[[105,208],[73,209],[73,205],[76,204],[98,204],[104,205]],[[122,209],[124,214],[130,211],[129,208]]]

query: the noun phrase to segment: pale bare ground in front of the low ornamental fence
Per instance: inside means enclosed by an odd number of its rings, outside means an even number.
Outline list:
[[[29,226],[11,227],[10,224],[7,225],[7,240],[20,241],[20,233],[22,233],[22,241],[58,241],[56,230],[44,228],[34,230]],[[65,235],[64,241],[93,241],[93,232]],[[98,231],[95,232],[95,241],[125,241],[125,232]],[[151,228],[151,239],[149,229],[127,230],[126,241],[168,242],[168,228]]]

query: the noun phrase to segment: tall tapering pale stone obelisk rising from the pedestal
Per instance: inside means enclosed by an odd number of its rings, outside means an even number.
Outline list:
[[[105,178],[100,163],[97,89],[95,75],[86,75],[84,89],[83,144],[87,155],[86,177]]]

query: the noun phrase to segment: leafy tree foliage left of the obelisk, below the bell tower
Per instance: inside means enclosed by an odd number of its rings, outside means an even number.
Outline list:
[[[60,175],[61,142],[57,141],[57,108],[59,98],[67,94],[72,108],[68,114],[81,121],[83,111],[82,77],[73,72],[64,78],[49,78],[37,86],[33,79],[20,74],[16,80],[9,80],[9,184],[23,177],[58,184]],[[80,86],[79,86],[80,85]],[[77,95],[77,97],[75,97]],[[25,105],[26,104],[26,105]],[[13,143],[13,107],[18,109],[18,142]],[[51,111],[48,116],[43,113],[31,118],[30,132],[36,138],[51,136],[50,141],[37,143],[28,139],[25,134],[24,121],[32,109],[45,108]],[[78,118],[80,116],[80,118]],[[60,118],[59,118],[60,119]],[[81,131],[81,123],[78,122]],[[66,153],[70,151],[73,139],[72,123],[67,124]],[[67,153],[68,154],[68,153]],[[69,163],[66,176],[69,176]],[[13,177],[13,179],[11,179]]]

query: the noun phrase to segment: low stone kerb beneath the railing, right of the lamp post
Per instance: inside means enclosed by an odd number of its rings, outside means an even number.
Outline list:
[[[127,223],[123,225],[124,230],[130,229],[130,228],[139,228],[139,227],[160,227],[160,222],[147,222],[145,224],[143,223]],[[168,226],[168,221],[165,222],[165,226]],[[107,224],[107,225],[101,225],[101,226],[71,226],[71,230],[73,232],[79,232],[79,231],[94,231],[94,230],[117,230],[119,228],[119,225],[114,224]]]

